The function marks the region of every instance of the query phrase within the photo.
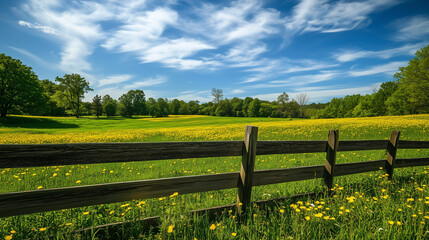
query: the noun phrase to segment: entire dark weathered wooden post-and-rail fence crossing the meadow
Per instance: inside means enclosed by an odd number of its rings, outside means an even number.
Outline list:
[[[0,217],[230,188],[238,188],[236,206],[242,213],[253,186],[324,178],[331,188],[335,176],[382,167],[392,177],[394,168],[429,165],[429,158],[396,158],[397,149],[429,148],[429,141],[399,140],[399,131],[393,131],[390,140],[359,141],[339,141],[338,130],[330,130],[327,141],[257,141],[257,134],[257,127],[247,126],[244,141],[0,144],[0,168],[242,156],[240,172],[2,193]],[[387,158],[335,163],[338,151],[377,149],[387,150]],[[324,165],[254,171],[256,155],[316,152],[326,152]]]

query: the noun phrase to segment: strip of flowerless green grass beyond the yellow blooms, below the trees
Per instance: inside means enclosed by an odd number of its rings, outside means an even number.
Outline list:
[[[83,116],[76,117],[21,117],[9,116],[0,119],[0,127],[4,132],[26,133],[72,133],[86,131],[108,131],[123,129],[156,129],[175,127],[222,126],[226,124],[245,124],[255,122],[291,121],[289,118],[238,118],[190,116],[168,118],[152,118],[139,116],[133,118]]]

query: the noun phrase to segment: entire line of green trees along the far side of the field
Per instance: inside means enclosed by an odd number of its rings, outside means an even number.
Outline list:
[[[130,90],[119,99],[96,95],[79,74],[56,77],[55,82],[39,80],[20,60],[0,54],[0,111],[7,114],[38,116],[123,116],[211,115],[230,117],[341,118],[429,113],[429,45],[416,52],[408,66],[400,67],[394,81],[381,84],[372,94],[333,98],[328,103],[308,103],[302,93],[289,99],[286,92],[276,101],[258,98],[224,99],[221,89],[212,89],[213,101],[185,102],[166,98],[146,99],[143,90]]]

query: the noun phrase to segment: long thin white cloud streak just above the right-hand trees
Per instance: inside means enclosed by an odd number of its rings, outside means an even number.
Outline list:
[[[390,48],[380,51],[353,51],[346,50],[341,53],[334,54],[334,58],[340,62],[350,62],[361,58],[381,58],[389,59],[395,56],[409,55],[412,56],[414,53],[426,46],[426,43],[406,44],[398,48]]]

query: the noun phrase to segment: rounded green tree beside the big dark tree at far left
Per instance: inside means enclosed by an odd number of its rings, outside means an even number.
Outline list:
[[[58,90],[54,99],[59,106],[65,107],[78,118],[85,93],[93,91],[89,82],[76,73],[65,74],[62,78],[56,77],[55,81],[58,82]]]

